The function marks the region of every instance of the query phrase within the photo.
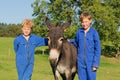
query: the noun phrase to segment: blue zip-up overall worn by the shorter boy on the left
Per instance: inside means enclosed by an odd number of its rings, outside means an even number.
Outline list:
[[[37,46],[47,45],[47,39],[31,34],[28,41],[23,35],[14,40],[18,80],[31,80],[34,67],[34,51]]]

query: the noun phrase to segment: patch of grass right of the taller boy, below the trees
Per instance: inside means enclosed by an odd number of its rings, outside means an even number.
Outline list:
[[[102,56],[98,80],[120,80],[120,60]]]

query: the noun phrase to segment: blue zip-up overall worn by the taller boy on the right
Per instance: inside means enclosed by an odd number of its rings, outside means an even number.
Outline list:
[[[85,34],[84,29],[80,28],[75,37],[78,48],[78,78],[79,80],[96,80],[96,71],[92,67],[99,66],[101,47],[98,32],[90,28]]]

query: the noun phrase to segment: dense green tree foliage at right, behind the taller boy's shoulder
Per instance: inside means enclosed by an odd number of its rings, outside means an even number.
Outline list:
[[[100,0],[81,0],[81,10],[92,13],[95,20],[94,27],[100,34],[103,53],[115,56],[120,50],[120,32],[118,31],[120,2],[119,0],[102,1],[103,3]]]

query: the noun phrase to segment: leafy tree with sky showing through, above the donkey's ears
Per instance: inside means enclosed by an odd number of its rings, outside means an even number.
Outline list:
[[[79,13],[78,5],[81,5],[79,0],[36,0],[32,4],[35,24],[43,25],[46,16],[53,20],[53,24],[64,23]]]

